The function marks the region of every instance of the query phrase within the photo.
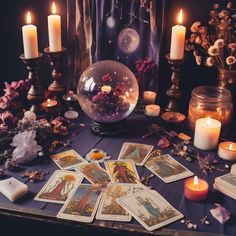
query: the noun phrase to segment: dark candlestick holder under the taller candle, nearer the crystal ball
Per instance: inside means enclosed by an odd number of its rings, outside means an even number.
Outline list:
[[[48,90],[57,96],[62,95],[65,91],[65,88],[62,84],[62,65],[66,48],[62,48],[62,50],[58,52],[52,52],[50,51],[50,48],[47,47],[44,49],[44,52],[48,55],[50,59],[50,64],[53,68],[53,82],[49,85]]]

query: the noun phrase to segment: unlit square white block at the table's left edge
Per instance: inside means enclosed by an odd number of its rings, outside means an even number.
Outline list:
[[[12,202],[26,195],[28,191],[26,184],[13,177],[0,181],[0,192]]]

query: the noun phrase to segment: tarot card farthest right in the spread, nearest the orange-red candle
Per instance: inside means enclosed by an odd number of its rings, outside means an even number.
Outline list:
[[[170,155],[159,155],[155,151],[149,156],[145,167],[166,183],[193,175],[193,172],[185,168]]]

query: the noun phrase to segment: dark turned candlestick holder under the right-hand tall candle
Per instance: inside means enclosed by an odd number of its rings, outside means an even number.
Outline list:
[[[171,87],[166,91],[167,96],[169,97],[169,102],[166,105],[165,111],[179,111],[178,101],[182,97],[183,93],[179,87],[180,81],[180,70],[185,61],[185,58],[175,60],[170,58],[170,54],[166,55],[166,59],[172,70],[171,75]]]

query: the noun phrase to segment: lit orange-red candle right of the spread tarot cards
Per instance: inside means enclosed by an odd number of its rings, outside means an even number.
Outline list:
[[[197,176],[188,178],[184,182],[184,196],[193,201],[202,201],[207,198],[208,183]]]

